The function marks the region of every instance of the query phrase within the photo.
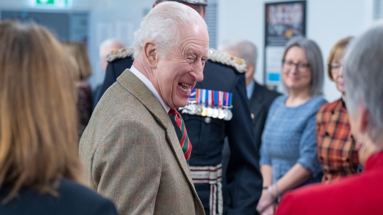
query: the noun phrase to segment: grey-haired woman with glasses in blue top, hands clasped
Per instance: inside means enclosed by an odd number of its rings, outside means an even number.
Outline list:
[[[316,145],[316,114],[322,98],[323,60],[314,41],[301,37],[286,44],[282,80],[287,95],[271,105],[262,134],[260,169],[263,176],[260,214],[274,212],[287,190],[319,182],[322,177]]]

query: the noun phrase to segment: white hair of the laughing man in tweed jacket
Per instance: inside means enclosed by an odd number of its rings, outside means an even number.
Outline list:
[[[178,2],[162,2],[156,5],[141,20],[134,32],[134,59],[140,59],[146,42],[155,44],[160,57],[166,57],[171,48],[179,45],[182,28],[185,26],[208,26],[193,8]]]

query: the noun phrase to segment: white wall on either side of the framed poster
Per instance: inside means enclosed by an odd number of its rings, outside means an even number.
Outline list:
[[[219,1],[218,42],[225,39],[247,39],[259,48],[255,78],[263,83],[265,3],[283,2],[265,0]],[[307,0],[306,34],[321,48],[326,64],[331,47],[341,38],[362,33],[372,24],[372,0]],[[325,67],[326,68],[326,67]],[[324,96],[328,101],[340,93],[327,76]]]

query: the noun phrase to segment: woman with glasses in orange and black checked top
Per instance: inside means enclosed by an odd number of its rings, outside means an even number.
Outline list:
[[[359,165],[355,140],[350,132],[349,117],[345,106],[343,79],[343,54],[351,37],[338,41],[332,47],[327,60],[327,75],[334,81],[342,97],[324,104],[316,118],[318,157],[322,165],[322,182],[337,181],[342,176],[356,173]]]

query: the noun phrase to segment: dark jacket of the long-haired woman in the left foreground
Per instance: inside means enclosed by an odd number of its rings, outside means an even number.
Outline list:
[[[0,191],[0,200],[7,197],[10,187]],[[41,194],[30,187],[21,188],[18,197],[0,203],[1,215],[117,215],[110,200],[69,179],[61,179],[58,196]]]

